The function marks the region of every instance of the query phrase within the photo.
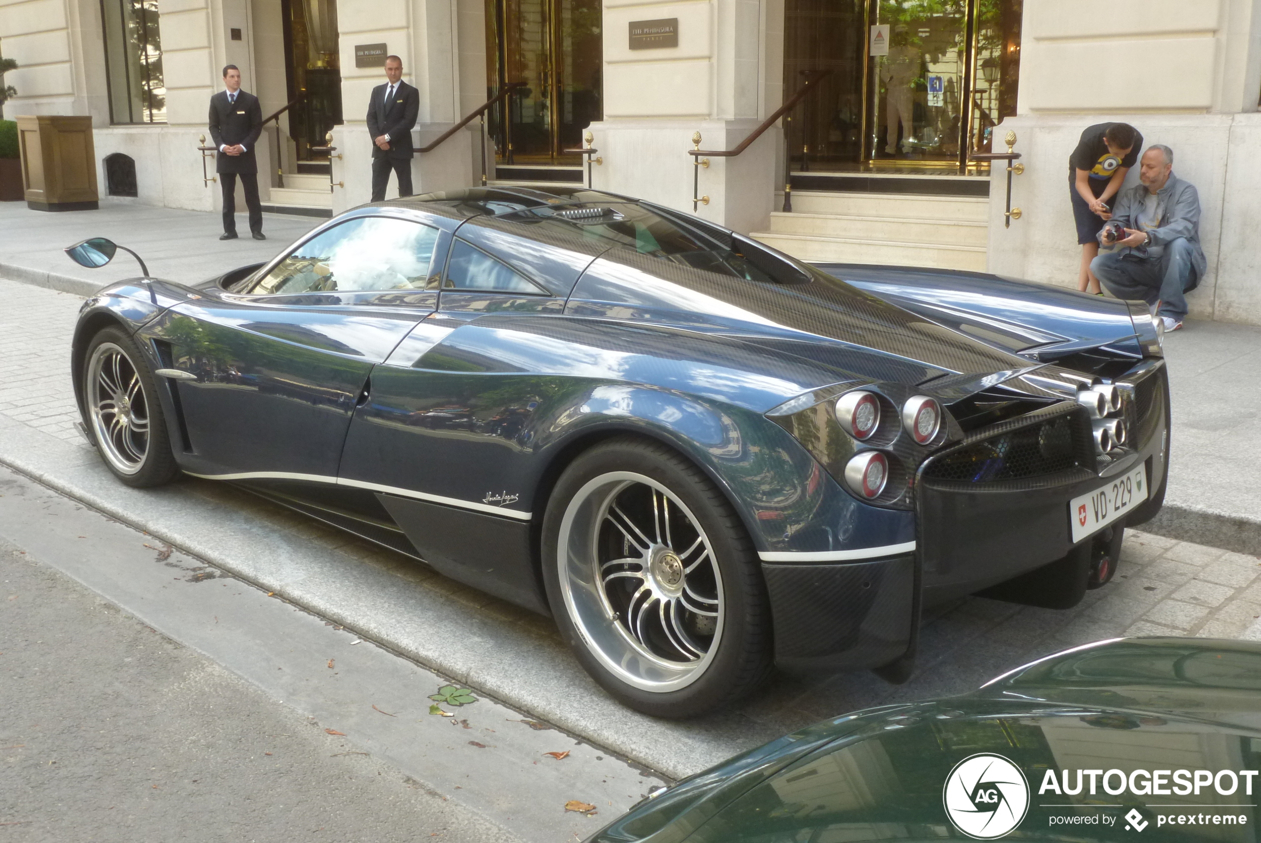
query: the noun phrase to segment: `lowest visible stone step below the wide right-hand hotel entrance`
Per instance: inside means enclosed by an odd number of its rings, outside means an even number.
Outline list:
[[[951,246],[817,234],[753,232],[750,237],[802,261],[837,263],[888,263],[942,270],[985,271],[984,246]]]

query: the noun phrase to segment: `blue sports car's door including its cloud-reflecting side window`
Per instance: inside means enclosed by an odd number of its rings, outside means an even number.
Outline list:
[[[438,304],[444,233],[368,214],[317,232],[246,292],[212,289],[153,328],[175,372],[185,467],[334,481],[372,367]],[[449,237],[449,234],[446,234]]]

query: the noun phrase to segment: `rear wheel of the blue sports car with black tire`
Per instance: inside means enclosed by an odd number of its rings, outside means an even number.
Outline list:
[[[630,475],[647,479],[648,483],[628,479]],[[662,512],[668,513],[663,519],[666,544],[653,544],[647,538],[646,548],[630,544],[630,533],[618,527],[613,513],[617,512],[620,519],[623,509],[644,512],[636,509],[636,502],[647,502],[651,496],[656,507],[657,495],[662,502]],[[656,515],[652,524],[657,527],[660,536],[662,529]],[[675,543],[681,547],[696,536],[692,544],[699,546],[700,551],[685,554],[681,549],[677,553],[670,549],[671,524]],[[620,530],[620,536],[613,528]],[[689,532],[692,529],[695,532]],[[590,548],[590,552],[578,549],[562,556],[562,532],[567,547]],[[643,537],[642,533],[636,534]],[[590,538],[590,543],[586,538]],[[601,548],[609,547],[610,541],[615,544],[613,553],[627,557],[628,562],[600,565]],[[636,554],[641,554],[643,561],[629,562],[630,556]],[[689,563],[691,567],[685,567]],[[610,565],[620,572],[604,573]],[[634,572],[636,566],[639,566],[639,573]],[[770,610],[758,554],[748,533],[714,483],[692,462],[660,442],[618,437],[594,446],[569,465],[547,504],[542,529],[542,567],[547,599],[561,635],[586,672],[605,691],[636,711],[654,717],[695,717],[749,694],[770,674]],[[627,568],[630,571],[627,572]],[[580,581],[584,571],[594,575],[588,583]],[[665,573],[658,577],[656,572]],[[677,577],[671,582],[676,573]],[[614,577],[622,578],[613,583]],[[692,577],[696,577],[695,583]],[[714,594],[716,600],[685,596],[685,592],[692,595],[691,590],[696,583],[696,594],[701,594],[706,582],[704,577],[712,577],[715,591],[706,594]],[[656,591],[649,591],[639,602],[636,597],[625,599],[617,591],[619,587],[625,594],[633,590],[638,597],[649,587],[667,586],[680,590],[675,602],[671,602],[675,599],[656,597]],[[607,607],[604,615],[596,611],[595,601]],[[614,601],[625,601],[618,602],[624,606],[624,619],[622,611],[609,616]],[[712,605],[714,620],[707,621],[707,616],[691,614],[692,605]],[[651,606],[658,606],[658,610],[649,612]],[[704,633],[710,622],[716,629],[701,653],[702,646],[697,641],[705,640]],[[694,633],[696,636],[692,636]],[[598,636],[604,636],[604,649],[596,641]],[[673,645],[672,653],[685,655],[685,646],[675,641],[686,641],[686,646],[695,650],[696,658],[687,662],[678,655],[661,657],[665,641]],[[615,657],[609,655],[609,650],[618,646],[628,648],[630,657],[619,663],[630,665],[622,673],[609,667],[618,663]],[[653,648],[658,649],[646,653]],[[634,675],[634,664],[647,664],[649,670],[657,669],[658,665],[652,663],[653,655],[663,658],[663,664],[680,665],[678,675],[682,678],[653,684],[651,677]],[[672,669],[662,668],[667,677],[675,675],[670,673]],[[685,680],[686,684],[676,687]]]

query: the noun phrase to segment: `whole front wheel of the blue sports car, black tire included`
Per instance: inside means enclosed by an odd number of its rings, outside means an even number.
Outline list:
[[[139,489],[170,483],[179,474],[179,465],[158,398],[158,383],[140,349],[122,329],[105,328],[88,343],[82,386],[83,426],[113,476]]]

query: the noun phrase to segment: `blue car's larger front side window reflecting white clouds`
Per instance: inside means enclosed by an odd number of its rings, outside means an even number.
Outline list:
[[[348,219],[285,256],[250,292],[424,290],[436,242],[436,228],[406,219]]]

